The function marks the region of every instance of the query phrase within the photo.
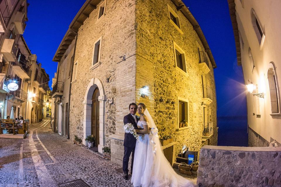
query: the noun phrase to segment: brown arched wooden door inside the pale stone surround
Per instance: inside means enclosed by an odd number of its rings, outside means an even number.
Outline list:
[[[95,89],[92,96],[92,128],[91,133],[95,136],[96,142],[95,147],[100,144],[100,104],[99,104],[100,91],[98,88]]]

